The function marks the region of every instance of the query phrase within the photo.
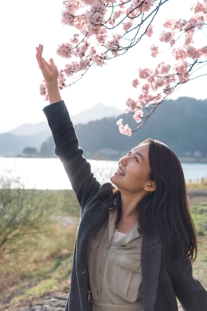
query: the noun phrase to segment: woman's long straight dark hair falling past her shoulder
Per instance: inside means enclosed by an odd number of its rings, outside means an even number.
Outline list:
[[[157,234],[163,243],[166,261],[181,254],[194,261],[197,238],[181,163],[175,153],[158,140],[149,138],[139,145],[142,144],[149,146],[149,179],[155,181],[156,190],[137,205],[140,229],[143,233]]]

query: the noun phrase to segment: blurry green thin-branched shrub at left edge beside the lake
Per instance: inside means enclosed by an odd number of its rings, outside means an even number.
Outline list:
[[[11,172],[0,176],[0,257],[18,249],[25,234],[43,230],[52,202],[36,189],[25,189],[20,177]]]

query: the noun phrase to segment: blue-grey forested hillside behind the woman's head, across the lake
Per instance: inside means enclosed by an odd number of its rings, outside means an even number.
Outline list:
[[[124,119],[125,124],[136,128],[137,123],[130,113],[120,118]],[[145,125],[131,137],[119,133],[117,120],[104,118],[75,126],[85,156],[117,159],[142,140],[151,137],[166,143],[178,156],[207,157],[207,100],[188,97],[168,100],[158,106]],[[48,144],[50,151],[47,151],[47,155],[53,156],[51,141],[52,137],[44,144],[44,150]]]

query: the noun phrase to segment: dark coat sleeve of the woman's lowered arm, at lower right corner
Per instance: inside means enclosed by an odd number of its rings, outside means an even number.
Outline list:
[[[193,276],[192,263],[188,256],[174,260],[172,281],[176,297],[185,311],[207,311],[207,291]]]

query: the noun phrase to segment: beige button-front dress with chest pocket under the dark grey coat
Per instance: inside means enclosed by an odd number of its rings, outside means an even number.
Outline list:
[[[109,219],[88,237],[88,300],[92,302],[93,311],[143,311],[143,236],[136,225],[119,238],[115,232],[116,219],[117,212],[109,213]]]

